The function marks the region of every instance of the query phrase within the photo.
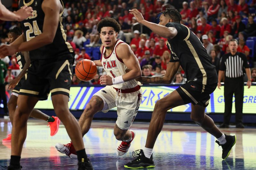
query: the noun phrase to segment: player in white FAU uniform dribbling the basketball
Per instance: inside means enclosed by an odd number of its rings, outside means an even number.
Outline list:
[[[141,103],[139,82],[135,79],[141,77],[140,64],[130,46],[117,40],[121,26],[113,18],[102,19],[97,26],[102,41],[101,59],[94,61],[97,66],[103,66],[107,75],[100,77],[100,84],[106,85],[96,92],[86,105],[79,119],[82,135],[90,129],[93,115],[99,111],[108,112],[117,107],[117,120],[114,126],[114,135],[122,141],[116,150],[117,155],[124,155],[135,137],[135,132],[129,130],[138,112]],[[56,144],[56,149],[76,159],[76,151],[72,142],[69,144]]]

